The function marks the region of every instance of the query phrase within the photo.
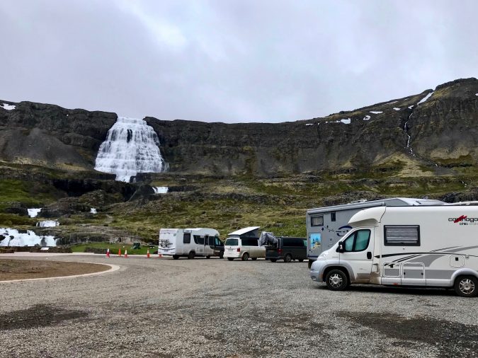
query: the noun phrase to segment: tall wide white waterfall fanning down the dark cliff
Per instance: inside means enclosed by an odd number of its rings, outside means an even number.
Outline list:
[[[161,173],[168,164],[152,127],[144,120],[118,117],[98,150],[95,169],[116,174],[116,180],[129,183],[137,173]]]

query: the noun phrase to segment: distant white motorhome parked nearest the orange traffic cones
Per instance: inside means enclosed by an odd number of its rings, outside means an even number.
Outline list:
[[[160,229],[158,253],[175,260],[181,256],[210,258],[215,255],[213,247],[219,243],[219,232],[215,229]]]

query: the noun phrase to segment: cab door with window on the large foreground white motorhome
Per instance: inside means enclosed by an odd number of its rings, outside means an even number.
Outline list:
[[[373,231],[358,229],[342,241],[343,253],[339,254],[340,263],[351,268],[352,282],[370,282],[373,262]]]

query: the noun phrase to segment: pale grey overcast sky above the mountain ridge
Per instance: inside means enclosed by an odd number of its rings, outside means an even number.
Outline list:
[[[478,75],[478,1],[1,0],[0,99],[283,122]]]

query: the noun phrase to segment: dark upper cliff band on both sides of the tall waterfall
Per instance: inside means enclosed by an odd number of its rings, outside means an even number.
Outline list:
[[[478,80],[461,79],[418,95],[324,118],[265,123],[146,120],[171,171],[302,173],[381,166],[394,161],[436,166],[478,159]],[[0,108],[0,160],[92,169],[114,113],[39,103]]]

